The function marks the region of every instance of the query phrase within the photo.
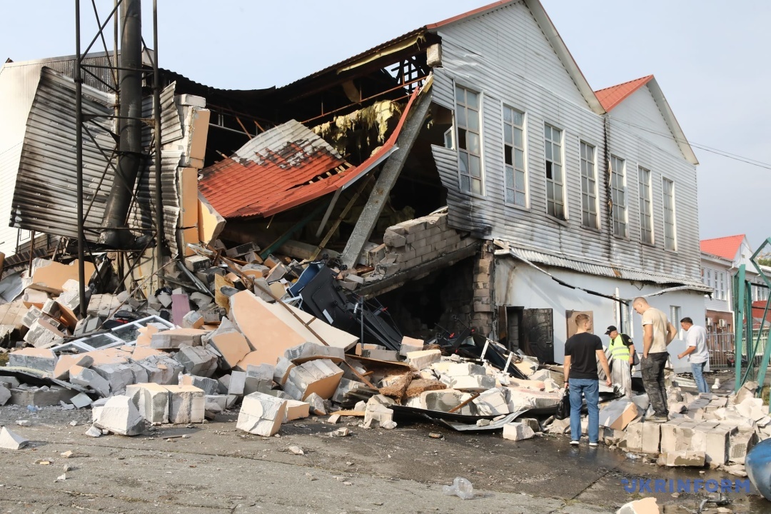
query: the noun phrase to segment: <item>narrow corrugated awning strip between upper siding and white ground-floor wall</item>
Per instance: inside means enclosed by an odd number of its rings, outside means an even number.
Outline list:
[[[701,282],[692,281],[689,278],[672,277],[665,274],[650,273],[648,271],[630,270],[618,266],[593,263],[588,260],[573,260],[554,254],[544,254],[527,248],[510,247],[510,254],[525,262],[545,264],[547,266],[564,267],[580,273],[597,275],[598,277],[620,278],[625,281],[652,282],[654,284],[678,284],[689,287],[692,291],[712,292],[712,287],[707,287]]]

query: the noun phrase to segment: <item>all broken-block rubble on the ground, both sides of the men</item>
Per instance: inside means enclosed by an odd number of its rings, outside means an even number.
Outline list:
[[[93,437],[203,423],[234,410],[239,430],[264,437],[310,415],[329,415],[330,425],[348,416],[364,429],[398,428],[401,416],[418,415],[456,430],[501,430],[511,441],[570,430],[569,420],[552,416],[561,367],[484,338],[403,337],[387,318],[372,320],[383,310],[360,302],[355,287],[341,287],[359,275],[334,261],[271,254],[258,262],[254,244],[190,248],[187,271],[180,266],[177,274],[197,279],[187,287],[142,299],[94,292],[83,319],[75,314],[72,266],[35,261],[19,299],[3,306],[19,320],[9,332],[19,342],[0,368],[0,404],[30,412],[90,406],[85,434]],[[328,298],[304,297],[309,286]],[[646,395],[602,388],[601,438],[658,465],[744,476],[746,453],[771,435],[756,389],[748,383],[736,395],[695,395],[672,375],[672,419],[659,424],[645,422]],[[3,431],[5,448],[25,444]],[[329,432],[351,434],[348,427]]]

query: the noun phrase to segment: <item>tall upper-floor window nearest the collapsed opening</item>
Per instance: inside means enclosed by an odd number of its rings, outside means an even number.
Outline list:
[[[480,139],[480,93],[455,87],[456,145],[460,190],[482,194],[482,143]]]

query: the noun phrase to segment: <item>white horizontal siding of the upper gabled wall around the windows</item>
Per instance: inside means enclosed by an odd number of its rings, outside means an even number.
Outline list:
[[[483,92],[485,197],[460,193],[456,153],[433,147],[439,174],[448,189],[449,223],[453,227],[472,230],[475,234],[487,233],[481,237],[507,240],[517,246],[578,261],[590,259],[648,273],[690,277],[699,282],[698,259],[692,258],[699,253],[699,241],[689,227],[681,227],[685,220],[690,227],[698,226],[693,166],[679,153],[679,157],[675,157],[656,149],[644,136],[619,139],[618,147],[611,146],[613,153],[630,161],[633,154],[649,156],[651,170],[667,170],[667,176],[675,176],[680,250],[672,254],[663,250],[663,242],[656,247],[638,243],[637,165],[632,163],[628,163],[627,177],[628,216],[633,237],[630,240],[613,237],[608,232],[608,194],[602,185],[607,180],[604,119],[586,104],[525,5],[510,5],[451,25],[439,35],[442,36],[443,68],[435,70],[436,101],[445,106],[454,103],[453,81]],[[502,103],[526,113],[527,209],[503,203]],[[657,112],[658,109],[654,114]],[[615,109],[613,114],[618,116]],[[655,119],[651,113],[647,116]],[[567,197],[564,222],[546,214],[544,123],[563,130]],[[663,119],[660,123],[665,126]],[[597,152],[599,232],[581,227],[581,140],[595,146]],[[655,174],[653,186],[655,230],[660,235],[663,230],[660,174]]]

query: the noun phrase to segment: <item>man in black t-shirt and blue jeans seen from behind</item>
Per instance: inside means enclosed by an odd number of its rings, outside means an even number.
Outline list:
[[[600,379],[597,374],[599,359],[605,372],[605,384],[610,386],[611,370],[602,348],[602,341],[591,333],[591,320],[587,314],[576,316],[577,331],[565,341],[565,387],[571,391],[571,445],[581,439],[581,396],[586,398],[589,411],[589,445],[597,446],[600,439]]]

